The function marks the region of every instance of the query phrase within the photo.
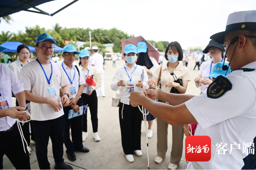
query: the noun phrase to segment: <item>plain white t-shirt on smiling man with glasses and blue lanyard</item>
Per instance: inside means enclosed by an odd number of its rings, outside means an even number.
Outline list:
[[[48,88],[54,87],[56,96],[52,97],[52,99],[58,101],[61,104],[60,86],[64,87],[65,85],[68,85],[69,80],[60,64],[54,63],[52,61],[50,62],[52,63],[52,69],[51,64],[42,65],[48,79],[52,73],[50,85],[48,84],[42,67],[36,60],[33,60],[22,67],[20,70],[19,78],[20,81],[24,83],[23,87],[25,90],[31,91],[31,93],[38,96],[50,97]],[[31,109],[33,109],[31,119],[35,121],[52,120],[64,115],[63,107],[60,111],[55,112],[54,109],[52,109],[52,107],[46,103],[30,102],[30,106]]]

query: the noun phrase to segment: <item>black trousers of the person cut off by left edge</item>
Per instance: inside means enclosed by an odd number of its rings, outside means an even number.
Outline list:
[[[27,145],[25,141],[25,149]],[[20,132],[17,123],[12,129],[6,132],[0,132],[0,169],[3,169],[3,156],[6,155],[16,169],[30,169],[29,152],[26,154],[23,149]]]

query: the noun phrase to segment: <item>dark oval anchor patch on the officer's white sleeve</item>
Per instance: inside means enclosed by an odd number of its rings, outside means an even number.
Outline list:
[[[217,99],[227,91],[231,90],[231,88],[232,84],[227,78],[218,76],[214,82],[209,85],[207,89],[207,97]]]

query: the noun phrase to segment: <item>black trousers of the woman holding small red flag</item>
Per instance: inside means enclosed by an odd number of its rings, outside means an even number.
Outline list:
[[[96,91],[94,90],[90,96],[82,93],[81,98],[84,105],[88,104],[90,109],[93,133],[98,132],[98,97]],[[83,115],[83,131],[87,132],[87,109]]]

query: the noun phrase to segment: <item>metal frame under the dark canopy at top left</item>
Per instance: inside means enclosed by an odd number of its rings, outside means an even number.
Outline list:
[[[37,8],[37,7],[35,7],[35,6],[33,6],[33,5],[30,5],[29,3],[32,2],[32,1],[34,1],[34,0],[30,0],[30,1],[27,1],[27,2],[24,2],[24,1],[21,1],[21,0],[15,0],[15,1],[20,2],[20,3],[22,3],[23,5],[20,5],[20,6],[18,6],[18,7],[8,7],[8,6],[2,6],[2,5],[0,5],[0,8],[10,8],[10,9],[12,9],[12,10],[9,10],[8,12],[3,13],[2,15],[0,15],[0,17],[7,16],[7,15],[10,15],[10,14],[12,14],[12,13],[16,13],[16,12],[14,12],[15,10],[20,10],[20,11],[23,10],[23,11],[27,11],[27,12],[40,13],[40,14],[44,14],[44,15],[48,15],[48,16],[54,16],[56,13],[60,12],[61,10],[64,10],[65,8],[69,7],[70,5],[72,5],[73,3],[75,3],[75,2],[77,2],[77,1],[79,1],[79,0],[74,0],[74,1],[70,2],[70,3],[67,4],[66,6],[62,7],[62,8],[59,9],[59,10],[57,10],[55,13],[47,13],[47,12],[45,12],[45,11],[43,11],[43,10],[41,10],[41,9],[39,9],[39,8]],[[23,8],[21,8],[21,7],[23,7],[24,5],[26,5],[26,6],[28,6],[28,7],[31,7],[31,8],[34,8],[34,9],[36,9],[36,10],[38,10],[38,11],[33,11],[33,10],[28,10],[28,9],[23,9]]]

